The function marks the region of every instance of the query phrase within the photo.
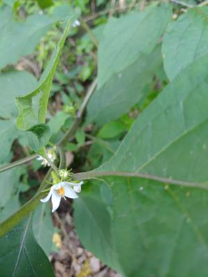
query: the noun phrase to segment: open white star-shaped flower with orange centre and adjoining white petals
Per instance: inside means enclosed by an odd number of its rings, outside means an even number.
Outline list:
[[[65,199],[65,197],[69,197],[72,199],[78,198],[78,195],[76,193],[80,193],[81,186],[83,185],[83,181],[80,181],[80,183],[71,183],[67,181],[62,181],[58,184],[55,184],[51,186],[51,189],[49,191],[49,194],[46,196],[46,198],[41,199],[41,202],[47,202],[51,198],[52,202],[52,213],[58,209],[58,206],[60,205],[60,200],[62,197]],[[73,187],[73,188],[71,188]]]

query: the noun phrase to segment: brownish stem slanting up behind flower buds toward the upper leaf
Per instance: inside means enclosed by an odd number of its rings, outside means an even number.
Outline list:
[[[76,129],[78,128],[78,125],[80,124],[80,121],[82,119],[82,116],[85,111],[85,107],[87,106],[87,103],[89,101],[89,98],[92,96],[92,93],[94,92],[94,89],[96,88],[97,85],[97,78],[94,79],[92,84],[90,85],[89,89],[87,90],[86,96],[83,100],[82,105],[80,106],[80,109],[78,110],[76,120],[74,120],[73,125],[69,129],[69,131],[62,137],[62,139],[58,142],[58,146],[64,146],[69,139],[75,134]]]

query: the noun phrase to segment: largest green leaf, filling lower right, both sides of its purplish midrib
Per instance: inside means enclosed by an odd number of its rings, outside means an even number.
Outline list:
[[[166,177],[167,183],[171,178],[207,183],[207,66],[205,55],[177,75],[139,115],[112,159],[90,176],[143,172]],[[207,276],[207,190],[172,187],[151,177],[105,177],[106,183],[107,208],[97,191],[83,193],[75,203],[78,234],[89,251],[126,277]],[[101,216],[110,223],[103,227]],[[85,232],[92,224],[94,240]],[[110,242],[106,250],[95,245],[103,233]]]

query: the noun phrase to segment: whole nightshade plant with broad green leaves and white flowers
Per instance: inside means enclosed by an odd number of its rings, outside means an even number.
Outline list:
[[[164,1],[123,10],[93,30],[64,8],[64,31],[40,80],[25,71],[1,72],[1,276],[54,276],[46,257],[51,236],[37,236],[38,208],[45,205],[40,200],[50,197],[53,211],[61,198],[76,198],[73,216],[81,242],[122,276],[207,276],[208,8],[182,4],[182,10]],[[53,12],[42,17],[35,33],[28,24],[35,15],[20,24],[9,6],[1,7],[1,69],[33,52],[50,24],[62,19],[60,11]],[[98,47],[98,74],[86,79],[91,82],[85,97],[63,132],[69,114],[60,111],[49,121],[46,114],[74,22]],[[32,34],[31,45],[7,48],[14,34],[17,42]],[[90,134],[86,129],[92,124]],[[59,134],[55,143],[54,134]],[[83,172],[74,173],[66,168],[65,152],[76,146],[71,141],[82,145],[86,137],[94,144],[78,167]],[[9,163],[13,141],[25,138],[31,156]],[[20,206],[17,166],[37,157],[49,170]]]

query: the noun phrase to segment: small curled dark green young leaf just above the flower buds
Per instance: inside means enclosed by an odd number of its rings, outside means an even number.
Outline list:
[[[42,150],[51,137],[50,128],[46,124],[37,124],[28,129],[28,143],[35,151]]]

